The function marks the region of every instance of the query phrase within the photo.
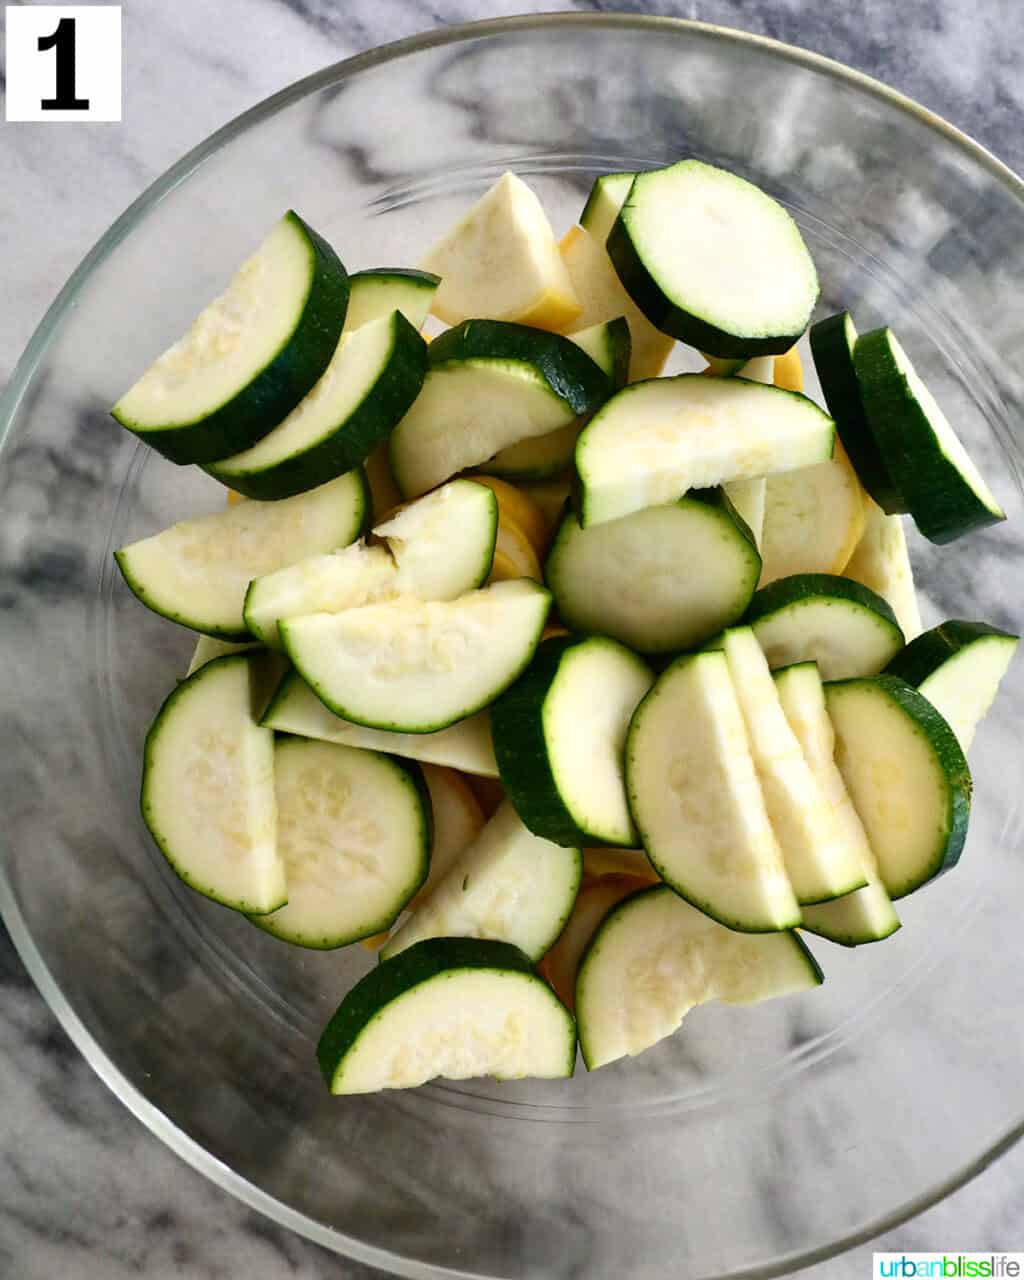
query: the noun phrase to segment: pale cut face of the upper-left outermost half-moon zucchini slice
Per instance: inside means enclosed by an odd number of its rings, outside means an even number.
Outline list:
[[[283,218],[188,333],[122,396],[115,417],[157,431],[207,417],[233,399],[288,340],[312,271],[306,234]]]

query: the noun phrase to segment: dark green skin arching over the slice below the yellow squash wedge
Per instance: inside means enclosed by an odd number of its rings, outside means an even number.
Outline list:
[[[463,320],[429,347],[431,369],[448,361],[509,360],[530,365],[573,413],[593,413],[612,393],[608,376],[568,338],[507,320]]]

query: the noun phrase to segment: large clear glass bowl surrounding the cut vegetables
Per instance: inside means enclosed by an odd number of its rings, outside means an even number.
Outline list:
[[[0,904],[100,1075],[251,1204],[408,1276],[709,1277],[820,1258],[922,1208],[1024,1116],[1024,677],[974,750],[960,867],[883,946],[814,945],[823,989],[705,1007],[573,1080],[332,1100],[314,1042],[360,947],[289,948],[189,895],[142,827],[140,748],[191,637],[111,548],[223,493],[108,416],[294,206],[349,268],[415,262],[502,170],[558,229],[603,170],[698,155],[786,201],[820,312],[891,323],[1010,521],[913,553],[927,621],[1012,626],[1024,188],[881,86],[769,41],[653,18],[529,18],[329,68],[223,129],[128,210],[3,402]]]

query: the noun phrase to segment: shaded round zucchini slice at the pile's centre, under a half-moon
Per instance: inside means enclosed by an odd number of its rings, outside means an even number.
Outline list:
[[[567,511],[544,572],[573,631],[639,653],[678,653],[739,621],[760,556],[722,490],[695,489],[591,529]]]

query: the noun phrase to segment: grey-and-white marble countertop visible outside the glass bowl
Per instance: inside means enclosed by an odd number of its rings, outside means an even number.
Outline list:
[[[237,113],[387,40],[484,15],[568,6],[566,0],[132,0],[124,13],[122,124],[0,125],[0,380],[111,219]],[[911,95],[1024,170],[1024,6],[1018,0],[846,6],[581,0],[572,8],[699,18],[817,50]],[[355,1280],[380,1274],[275,1228],[163,1147],[78,1056],[1,929],[0,1098],[0,1275]],[[1021,1188],[1024,1147],[1018,1147],[942,1204],[808,1275],[867,1276],[873,1248],[1019,1248]]]

